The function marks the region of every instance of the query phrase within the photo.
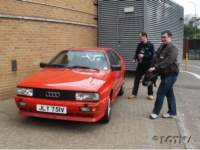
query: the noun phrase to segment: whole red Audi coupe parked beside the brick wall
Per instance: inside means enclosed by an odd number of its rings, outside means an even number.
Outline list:
[[[48,119],[108,122],[123,95],[125,64],[110,48],[60,52],[17,85],[19,114]]]

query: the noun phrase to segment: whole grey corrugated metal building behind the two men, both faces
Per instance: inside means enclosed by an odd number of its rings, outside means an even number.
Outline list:
[[[125,13],[124,8],[134,7]],[[182,58],[183,8],[169,0],[99,0],[98,43],[100,47],[115,48],[125,59],[126,69],[135,70],[132,63],[138,43],[138,33],[146,31],[158,48],[160,33],[171,30]]]

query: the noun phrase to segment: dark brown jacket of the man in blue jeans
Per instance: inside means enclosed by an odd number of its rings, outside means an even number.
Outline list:
[[[154,66],[161,75],[178,73],[178,49],[172,44],[161,45],[155,55]]]

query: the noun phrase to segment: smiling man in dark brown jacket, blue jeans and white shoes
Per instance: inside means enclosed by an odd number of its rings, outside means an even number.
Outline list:
[[[150,115],[151,119],[158,118],[165,96],[167,97],[169,110],[166,114],[163,114],[163,118],[176,117],[176,99],[173,85],[179,72],[177,64],[178,49],[172,44],[172,33],[168,30],[161,33],[161,42],[162,44],[156,52],[155,64],[149,69],[150,72],[157,70],[161,75],[156,102]]]

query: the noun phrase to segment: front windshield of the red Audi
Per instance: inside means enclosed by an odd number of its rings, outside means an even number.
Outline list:
[[[50,61],[48,66],[108,70],[105,54],[97,51],[64,51]]]

